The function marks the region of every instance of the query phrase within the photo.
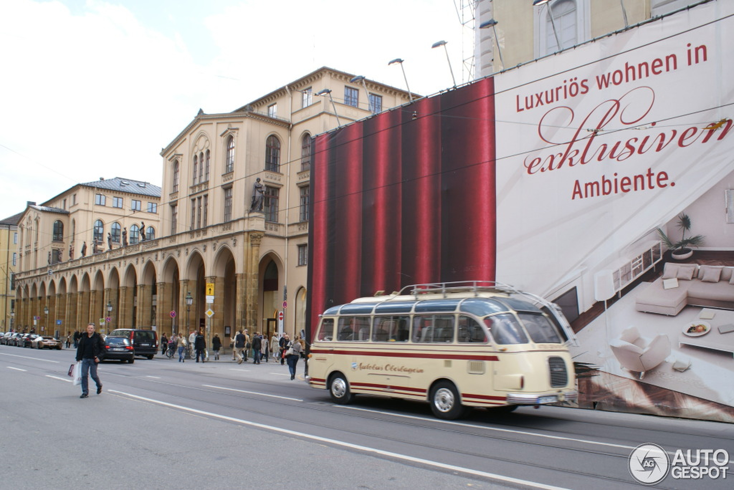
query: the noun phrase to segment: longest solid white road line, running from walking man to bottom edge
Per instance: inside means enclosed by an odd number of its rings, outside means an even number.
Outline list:
[[[431,467],[436,467],[436,468],[441,468],[441,469],[448,469],[450,471],[461,472],[467,475],[475,475],[475,476],[480,476],[483,478],[490,478],[491,480],[499,480],[499,481],[503,481],[506,483],[515,483],[517,485],[531,486],[535,489],[562,490],[562,487],[559,487],[559,486],[545,485],[545,483],[536,483],[534,481],[520,480],[519,478],[512,478],[512,477],[504,476],[504,475],[497,475],[496,473],[488,473],[488,472],[483,472],[483,471],[479,471],[479,470],[471,469],[471,468],[457,467],[457,466],[454,466],[453,464],[445,464],[445,463],[440,463],[438,461],[430,461],[429,459],[415,458],[413,456],[407,456],[406,454],[391,453],[390,451],[376,449],[374,447],[367,447],[367,446],[351,444],[349,442],[338,441],[336,439],[328,439],[327,437],[314,436],[312,434],[305,434],[303,432],[291,431],[285,428],[273,427],[272,425],[265,425],[265,424],[250,422],[249,420],[242,420],[242,419],[238,419],[235,417],[228,417],[222,414],[205,412],[203,410],[192,409],[188,406],[174,405],[173,403],[153,400],[153,398],[145,398],[145,397],[138,396],[138,395],[132,395],[131,393],[121,392],[117,390],[108,390],[108,392],[119,393],[120,395],[128,396],[130,398],[135,398],[141,401],[147,401],[148,403],[156,403],[161,406],[168,406],[172,409],[179,409],[185,412],[190,412],[192,414],[206,415],[208,417],[213,417],[213,418],[217,418],[220,420],[228,420],[230,422],[236,422],[242,425],[249,425],[250,427],[261,428],[266,431],[274,431],[274,432],[279,432],[280,434],[287,434],[289,436],[302,437],[303,439],[310,439],[312,441],[324,442],[330,445],[348,447],[349,449],[364,451],[366,453],[379,454],[380,456],[387,456],[388,458],[395,458],[401,461],[411,461],[413,463],[424,464],[426,466],[431,466]]]

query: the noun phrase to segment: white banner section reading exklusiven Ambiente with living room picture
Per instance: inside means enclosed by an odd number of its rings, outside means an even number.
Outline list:
[[[497,279],[575,320],[585,406],[734,421],[733,3],[495,76]]]

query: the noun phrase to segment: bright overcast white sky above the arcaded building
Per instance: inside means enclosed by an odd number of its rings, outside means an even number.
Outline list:
[[[321,66],[413,92],[469,81],[461,0],[0,0],[0,218],[76,183],[161,184],[161,147]],[[468,3],[468,2],[464,2]],[[469,24],[470,26],[471,24]],[[462,39],[463,38],[463,39]]]

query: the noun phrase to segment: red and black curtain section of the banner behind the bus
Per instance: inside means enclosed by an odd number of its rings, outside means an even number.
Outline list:
[[[316,138],[312,324],[377,290],[495,277],[493,81]]]

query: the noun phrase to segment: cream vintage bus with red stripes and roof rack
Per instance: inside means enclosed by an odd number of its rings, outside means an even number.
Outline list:
[[[469,407],[575,401],[561,309],[498,282],[411,285],[355,299],[320,315],[308,382],[335,403],[357,393],[428,401],[454,420]]]

